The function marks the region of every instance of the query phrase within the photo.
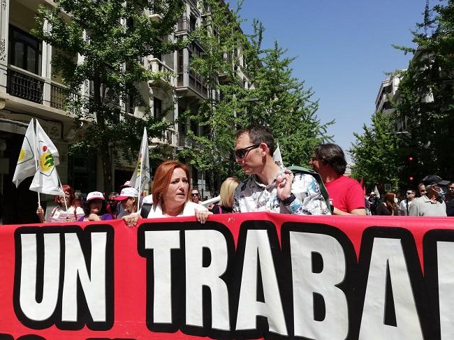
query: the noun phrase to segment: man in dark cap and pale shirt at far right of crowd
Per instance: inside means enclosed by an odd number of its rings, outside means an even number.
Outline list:
[[[410,206],[410,216],[446,216],[444,191],[441,186],[448,184],[437,175],[424,177],[425,195],[416,199]]]

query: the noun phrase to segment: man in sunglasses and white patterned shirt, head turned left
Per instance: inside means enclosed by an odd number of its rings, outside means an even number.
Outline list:
[[[237,133],[235,160],[250,176],[235,189],[233,212],[330,214],[316,179],[277,165],[273,152],[269,128],[253,125]]]

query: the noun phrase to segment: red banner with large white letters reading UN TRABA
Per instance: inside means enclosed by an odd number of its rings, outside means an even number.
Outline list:
[[[451,339],[452,221],[2,226],[0,339]]]

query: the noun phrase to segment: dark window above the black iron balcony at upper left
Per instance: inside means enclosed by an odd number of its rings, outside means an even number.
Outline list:
[[[43,44],[30,34],[10,25],[8,61],[11,65],[41,75]]]

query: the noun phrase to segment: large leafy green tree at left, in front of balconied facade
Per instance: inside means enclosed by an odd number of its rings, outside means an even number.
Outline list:
[[[75,121],[89,121],[81,147],[91,147],[101,156],[104,190],[112,189],[112,158],[117,151],[135,155],[143,127],[149,136],[161,136],[168,127],[161,117],[152,117],[149,103],[140,94],[140,83],[163,74],[144,67],[144,57],[173,52],[186,41],[169,42],[182,15],[180,0],[58,0],[53,10],[41,6],[34,34],[54,48],[52,72],[60,74],[68,93],[76,94],[90,83],[86,96],[68,96],[66,109]],[[159,13],[154,21],[144,10]],[[68,19],[68,15],[71,20]],[[50,23],[50,29],[43,30]],[[77,55],[80,57],[77,60]],[[143,91],[143,90],[142,90]],[[122,103],[145,111],[144,119],[122,112]]]

